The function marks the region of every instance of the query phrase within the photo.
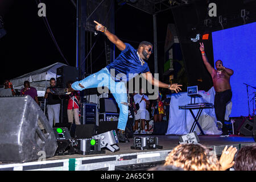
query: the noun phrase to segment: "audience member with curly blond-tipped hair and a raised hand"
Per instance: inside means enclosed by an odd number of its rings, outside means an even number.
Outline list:
[[[166,165],[183,168],[186,171],[225,171],[233,166],[237,148],[227,146],[222,151],[220,161],[210,154],[207,147],[197,144],[179,144],[166,158]]]

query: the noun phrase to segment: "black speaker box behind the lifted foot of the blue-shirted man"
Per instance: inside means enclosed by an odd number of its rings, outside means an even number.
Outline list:
[[[56,86],[58,88],[66,88],[68,81],[78,81],[79,80],[79,70],[76,67],[70,67],[63,65],[62,67],[57,68],[57,77]]]

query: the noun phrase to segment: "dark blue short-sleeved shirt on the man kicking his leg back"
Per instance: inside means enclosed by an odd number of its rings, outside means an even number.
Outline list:
[[[129,81],[131,78],[141,73],[150,71],[146,62],[142,65],[137,50],[130,44],[125,43],[125,45],[125,49],[119,54],[114,62],[106,66],[112,78],[117,82]]]

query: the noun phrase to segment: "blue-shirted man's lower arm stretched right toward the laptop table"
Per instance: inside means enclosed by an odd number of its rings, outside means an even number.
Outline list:
[[[178,84],[164,84],[163,82],[155,79],[153,76],[152,76],[152,73],[151,72],[146,72],[146,73],[142,73],[142,76],[148,81],[150,82],[151,85],[154,85],[154,86],[158,86],[158,87],[161,87],[161,88],[167,88],[167,89],[170,89],[170,90],[174,90],[176,93],[179,92],[179,90],[181,90],[180,86],[182,85],[178,85]]]

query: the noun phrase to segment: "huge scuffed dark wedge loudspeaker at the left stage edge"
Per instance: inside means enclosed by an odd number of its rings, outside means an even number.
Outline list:
[[[30,96],[0,97],[0,162],[54,156],[57,142],[42,109]]]

